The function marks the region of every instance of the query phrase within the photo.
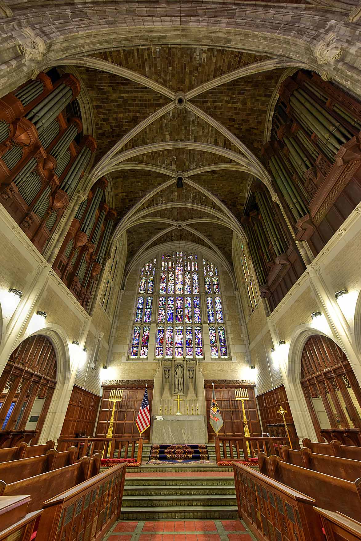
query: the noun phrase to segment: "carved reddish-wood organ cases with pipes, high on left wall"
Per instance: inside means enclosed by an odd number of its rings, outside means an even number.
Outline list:
[[[43,253],[71,203],[73,221],[53,265],[84,308],[106,263],[115,211],[102,178],[82,201],[77,188],[96,142],[83,135],[80,83],[56,69],[41,72],[0,100],[0,200]]]

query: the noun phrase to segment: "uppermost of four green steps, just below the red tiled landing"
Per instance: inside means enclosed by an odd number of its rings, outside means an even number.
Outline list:
[[[233,477],[127,477],[125,486],[137,487],[137,486],[233,486]]]

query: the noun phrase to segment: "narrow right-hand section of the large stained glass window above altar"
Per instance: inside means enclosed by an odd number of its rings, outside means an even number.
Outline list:
[[[228,357],[226,329],[224,326],[225,316],[222,306],[218,268],[213,262],[204,259],[203,271],[211,357],[215,359],[218,357]]]

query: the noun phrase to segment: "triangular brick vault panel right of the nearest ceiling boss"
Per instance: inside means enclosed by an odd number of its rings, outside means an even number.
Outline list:
[[[192,102],[259,156],[268,103],[282,73],[277,69],[244,77],[195,96]]]

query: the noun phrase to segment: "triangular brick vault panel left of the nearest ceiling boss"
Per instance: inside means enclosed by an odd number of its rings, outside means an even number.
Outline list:
[[[94,109],[96,161],[143,118],[169,102],[162,96],[117,75],[78,68]]]

